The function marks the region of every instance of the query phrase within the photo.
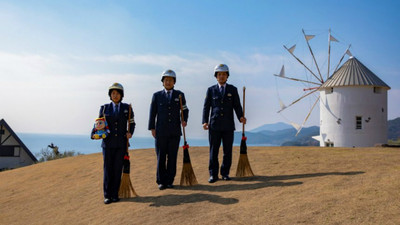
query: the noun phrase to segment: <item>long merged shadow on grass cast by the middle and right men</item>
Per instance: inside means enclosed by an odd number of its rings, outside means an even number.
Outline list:
[[[281,175],[281,176],[254,176],[254,177],[233,177],[233,182],[219,180],[217,185],[195,185],[190,187],[177,186],[176,189],[181,190],[198,190],[198,191],[209,191],[209,192],[228,192],[228,191],[244,191],[244,190],[255,190],[267,187],[285,187],[300,185],[303,182],[282,182],[284,180],[321,177],[321,176],[352,176],[363,174],[362,171],[353,172],[330,172],[330,173],[310,173],[310,174],[294,174],[294,175]],[[235,181],[243,182],[241,184]],[[224,183],[224,184],[221,184]]]

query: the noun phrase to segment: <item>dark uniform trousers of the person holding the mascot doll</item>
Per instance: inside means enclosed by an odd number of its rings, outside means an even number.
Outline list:
[[[104,198],[118,198],[126,148],[103,148]]]

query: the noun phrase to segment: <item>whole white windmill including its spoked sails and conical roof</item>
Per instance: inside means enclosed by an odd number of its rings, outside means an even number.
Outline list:
[[[330,70],[330,48],[331,42],[338,42],[331,35],[329,30],[328,38],[328,66],[326,79],[324,80],[317,60],[311,49],[309,41],[315,35],[306,35],[303,30],[308,49],[317,69],[317,74],[307,67],[298,57],[294,55],[296,45],[291,48],[284,48],[311,73],[311,79],[298,79],[287,77],[285,67],[282,66],[280,73],[274,74],[277,77],[302,82],[315,87],[304,89],[304,94],[288,106],[280,100],[281,109],[278,113],[298,103],[302,99],[316,94],[316,98],[309,113],[301,125],[291,123],[297,134],[301,131],[308,120],[311,112],[320,102],[320,135],[314,138],[320,141],[320,146],[335,147],[367,147],[387,141],[387,91],[390,87],[379,79],[373,72],[353,57],[349,47],[339,60],[332,75]],[[345,55],[350,58],[340,68]],[[296,134],[296,135],[297,135]]]

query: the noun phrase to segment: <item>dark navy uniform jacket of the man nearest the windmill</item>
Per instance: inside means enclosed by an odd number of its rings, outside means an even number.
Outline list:
[[[208,88],[203,107],[203,124],[208,123],[209,129],[216,131],[235,130],[233,110],[240,120],[243,109],[235,86],[226,84],[224,96],[221,95],[218,84]]]

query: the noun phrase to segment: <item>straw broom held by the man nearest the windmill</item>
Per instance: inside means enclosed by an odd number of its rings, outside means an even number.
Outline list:
[[[246,91],[246,87],[243,87],[243,117],[244,117],[244,112],[245,112],[245,91]],[[252,177],[252,176],[254,176],[254,173],[251,170],[249,159],[247,158],[246,140],[247,140],[247,137],[244,135],[244,123],[243,123],[242,140],[240,142],[240,157],[239,157],[238,167],[236,170],[237,177]]]

